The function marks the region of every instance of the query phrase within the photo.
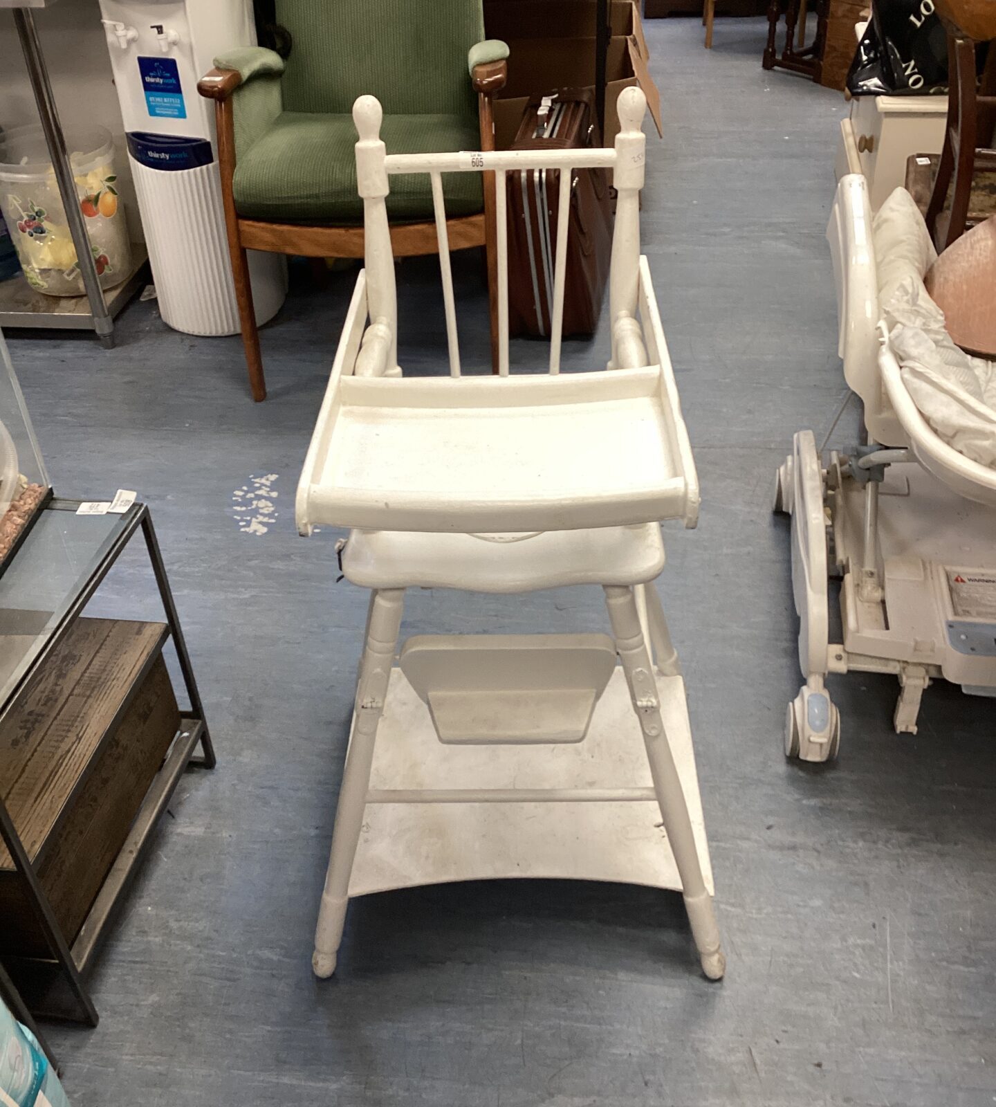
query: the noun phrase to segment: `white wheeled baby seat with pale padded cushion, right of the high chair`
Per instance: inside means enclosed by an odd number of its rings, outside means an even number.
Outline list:
[[[996,695],[996,469],[927,422],[882,319],[898,292],[936,312],[923,287],[936,257],[930,236],[903,190],[873,218],[868,182],[851,174],[838,186],[827,237],[839,353],[863,405],[867,443],[821,457],[812,432],[798,432],[775,503],[791,515],[806,677],[788,707],[786,753],[813,762],[834,757],[840,743],[828,673],[895,674],[899,733],[916,733],[935,679]],[[831,577],[840,580],[839,641],[830,637]]]

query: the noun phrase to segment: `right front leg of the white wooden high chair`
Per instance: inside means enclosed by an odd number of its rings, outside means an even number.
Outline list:
[[[671,842],[674,860],[682,878],[685,908],[692,935],[698,949],[703,972],[710,980],[719,980],[726,969],[726,958],[719,943],[719,928],[713,912],[713,901],[705,886],[695,836],[685,794],[678,778],[664,723],[657,685],[651,666],[650,654],[640,629],[636,598],[631,588],[611,586],[605,588],[605,602],[615,637],[633,710],[640,720],[646,757],[650,762],[654,792],[661,806],[664,830]]]

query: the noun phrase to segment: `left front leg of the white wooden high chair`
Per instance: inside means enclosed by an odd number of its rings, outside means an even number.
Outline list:
[[[353,711],[353,733],[339,789],[329,870],[314,932],[314,956],[311,964],[317,976],[331,976],[335,972],[335,959],[349,903],[350,873],[366,807],[374,742],[397,650],[404,594],[404,589],[390,589],[374,592],[370,599],[366,641],[360,662]]]

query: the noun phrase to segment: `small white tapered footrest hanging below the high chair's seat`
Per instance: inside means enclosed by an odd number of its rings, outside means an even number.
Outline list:
[[[580,742],[615,666],[606,634],[424,634],[401,668],[440,742]]]

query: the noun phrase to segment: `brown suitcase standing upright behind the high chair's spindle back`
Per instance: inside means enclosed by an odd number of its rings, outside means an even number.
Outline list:
[[[512,149],[600,145],[591,91],[562,89],[530,103]],[[574,169],[568,216],[563,334],[593,334],[612,254],[606,169]],[[557,256],[559,169],[520,169],[508,189],[508,318],[511,334],[550,334]]]

